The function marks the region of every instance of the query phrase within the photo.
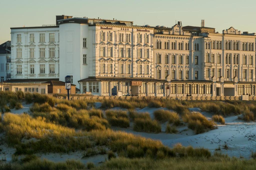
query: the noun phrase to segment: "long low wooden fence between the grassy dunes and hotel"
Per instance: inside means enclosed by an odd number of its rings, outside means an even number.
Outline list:
[[[52,96],[52,94],[48,94]],[[57,97],[67,100],[68,97]],[[189,97],[155,97],[155,96],[70,96],[70,100],[104,100],[104,99],[167,99],[167,100],[241,100],[241,96],[189,96]],[[249,100],[256,100],[256,96],[249,96]]]

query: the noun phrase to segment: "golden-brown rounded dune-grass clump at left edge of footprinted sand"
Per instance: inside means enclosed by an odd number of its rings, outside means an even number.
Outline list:
[[[209,121],[204,115],[198,112],[191,112],[182,117],[184,122],[188,123],[188,128],[195,130],[196,134],[214,129],[213,121]]]

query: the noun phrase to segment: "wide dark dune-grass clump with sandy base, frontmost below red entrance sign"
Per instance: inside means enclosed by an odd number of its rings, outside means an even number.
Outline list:
[[[160,133],[161,126],[156,120],[136,118],[133,130],[137,132]]]

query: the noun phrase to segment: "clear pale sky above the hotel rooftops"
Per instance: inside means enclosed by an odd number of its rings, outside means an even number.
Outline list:
[[[55,24],[56,15],[134,21],[172,27],[182,25],[256,32],[255,0],[0,0],[0,44],[10,40],[10,27]]]

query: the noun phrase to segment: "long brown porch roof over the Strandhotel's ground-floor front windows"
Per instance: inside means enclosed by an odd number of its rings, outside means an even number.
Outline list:
[[[86,79],[79,80],[82,81],[144,81],[144,82],[167,82],[166,80],[158,80],[152,78],[132,78],[132,77],[88,77]]]

